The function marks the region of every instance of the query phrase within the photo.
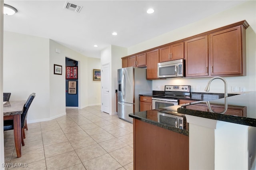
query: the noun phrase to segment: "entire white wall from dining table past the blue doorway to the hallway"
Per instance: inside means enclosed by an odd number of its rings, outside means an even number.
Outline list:
[[[56,53],[55,49],[60,53]],[[79,108],[98,105],[100,83],[92,82],[92,68],[100,59],[86,57],[47,38],[4,32],[3,91],[12,93],[10,100],[36,97],[28,113],[28,123],[47,121],[66,114],[65,57],[78,62]],[[54,64],[62,65],[62,75],[54,74]],[[93,88],[92,88],[93,87]]]

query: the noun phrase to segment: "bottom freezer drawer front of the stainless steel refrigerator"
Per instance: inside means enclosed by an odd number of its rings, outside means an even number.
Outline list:
[[[130,113],[134,113],[134,104],[118,101],[118,113],[117,113],[118,118],[121,118],[133,123],[133,119],[129,117]]]

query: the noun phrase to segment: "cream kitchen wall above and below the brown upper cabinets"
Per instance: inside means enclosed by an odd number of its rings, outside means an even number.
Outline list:
[[[148,41],[128,48],[128,55],[157,47],[166,43],[188,38],[202,32],[214,30],[235,22],[246,20],[250,25],[246,30],[246,68],[247,75],[239,77],[224,77],[228,82],[228,93],[231,86],[245,87],[246,91],[256,91],[256,1],[248,1],[234,8],[230,8],[218,14],[204,18],[187,26],[178,28]],[[192,91],[200,86],[199,92],[204,88],[210,78],[169,78],[166,80],[153,80],[152,90],[164,90],[164,85],[192,85]],[[158,88],[159,87],[159,88]],[[211,93],[224,93],[224,85],[221,80],[214,80],[210,89]]]

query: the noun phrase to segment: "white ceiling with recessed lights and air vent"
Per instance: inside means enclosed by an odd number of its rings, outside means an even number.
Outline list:
[[[4,15],[4,30],[50,38],[88,57],[100,58],[100,51],[110,44],[130,47],[245,0],[68,0],[83,6],[80,13],[64,9],[65,2],[4,0],[18,10],[12,16]],[[148,8],[155,12],[147,14]]]

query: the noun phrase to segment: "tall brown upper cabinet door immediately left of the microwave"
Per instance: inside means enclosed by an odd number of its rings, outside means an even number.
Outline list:
[[[158,79],[157,63],[159,62],[159,49],[148,51],[147,56],[147,79]]]

